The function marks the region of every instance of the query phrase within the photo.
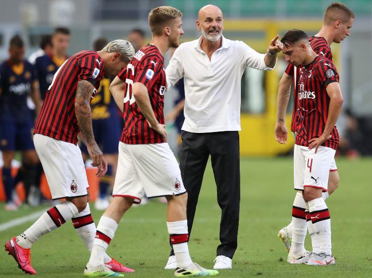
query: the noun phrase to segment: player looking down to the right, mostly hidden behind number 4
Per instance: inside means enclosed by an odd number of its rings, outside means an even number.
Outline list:
[[[340,43],[343,39],[350,35],[350,28],[353,25],[354,13],[349,10],[344,4],[333,3],[331,4],[324,17],[324,24],[322,29],[314,36],[309,38],[310,46],[315,53],[323,55],[332,60],[332,52],[330,45]],[[291,130],[296,131],[297,123],[297,110],[298,110],[298,94],[296,92],[296,84],[299,78],[299,68],[293,64],[288,64],[288,67],[283,74],[279,84],[278,103],[277,103],[277,122],[275,126],[275,137],[280,144],[286,144],[287,141],[287,127],[284,119],[288,106],[290,96],[290,89],[292,83],[294,84],[294,97],[293,97],[293,113]],[[336,162],[333,161],[330,170],[328,191],[323,192],[322,196],[326,200],[339,184],[339,175],[336,167]],[[307,217],[306,217],[307,215]],[[307,220],[307,221],[306,221]],[[304,241],[306,236],[306,223],[311,236],[312,251],[317,253],[319,251],[319,241],[317,235],[312,229],[311,221],[308,218],[308,210],[305,208],[305,201],[302,197],[301,191],[295,195],[295,200],[292,209],[292,222],[279,231],[279,238],[283,241],[288,255],[288,261],[293,262],[299,257],[299,254],[305,252]],[[293,226],[295,225],[295,227]],[[294,227],[294,228],[293,228]],[[292,244],[291,244],[292,242]]]

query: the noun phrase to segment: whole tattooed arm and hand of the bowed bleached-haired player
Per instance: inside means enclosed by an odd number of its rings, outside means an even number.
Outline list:
[[[98,167],[96,176],[102,177],[107,172],[107,162],[94,140],[92,128],[92,111],[90,109],[90,99],[94,91],[94,86],[89,81],[81,80],[78,82],[75,96],[75,115],[81,133],[86,142],[88,153],[92,158],[92,166]]]

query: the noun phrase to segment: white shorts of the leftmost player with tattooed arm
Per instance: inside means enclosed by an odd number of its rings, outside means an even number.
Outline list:
[[[88,179],[80,148],[41,134],[34,135],[52,199],[87,195]]]

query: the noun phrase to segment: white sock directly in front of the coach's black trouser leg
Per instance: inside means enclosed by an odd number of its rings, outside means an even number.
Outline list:
[[[177,266],[186,268],[192,264],[189,254],[187,220],[167,222],[174,254],[177,259]]]

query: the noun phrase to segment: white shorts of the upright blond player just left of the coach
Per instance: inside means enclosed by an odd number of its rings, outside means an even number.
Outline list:
[[[119,160],[113,196],[148,198],[186,192],[180,167],[168,143],[129,145],[119,143]]]

